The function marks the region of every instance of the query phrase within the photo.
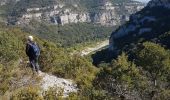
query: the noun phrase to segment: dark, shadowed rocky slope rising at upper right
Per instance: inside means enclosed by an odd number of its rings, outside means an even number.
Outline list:
[[[143,10],[131,15],[128,23],[112,33],[110,50],[148,40],[159,43],[161,34],[170,30],[169,5],[169,0],[152,0]]]

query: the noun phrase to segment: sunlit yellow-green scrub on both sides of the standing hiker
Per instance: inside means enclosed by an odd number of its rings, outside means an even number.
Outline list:
[[[25,55],[25,43],[28,33],[24,33],[20,28],[6,27],[0,28],[0,95],[14,94],[15,98],[22,98],[28,94],[28,98],[35,97],[36,91],[29,89],[29,86],[36,85],[38,78],[32,76],[31,69],[27,65]],[[71,78],[77,82],[80,89],[90,88],[98,69],[95,68],[87,59],[80,56],[70,56],[68,52],[52,42],[36,38],[42,52],[40,65],[42,71],[53,73],[60,77]],[[30,80],[26,85],[23,79]],[[24,80],[23,80],[24,81]],[[22,92],[27,90],[27,92]],[[20,90],[21,89],[21,90]],[[25,91],[26,91],[25,90]],[[15,92],[19,91],[20,94]],[[17,95],[15,95],[17,94]],[[33,95],[32,95],[33,94]],[[50,95],[50,94],[48,94]],[[31,99],[31,98],[30,98]]]

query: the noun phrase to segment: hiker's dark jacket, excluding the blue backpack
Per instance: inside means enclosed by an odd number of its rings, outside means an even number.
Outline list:
[[[26,44],[26,54],[29,58],[35,59],[39,55],[34,54],[33,50],[31,49],[31,44],[36,44],[36,42],[30,42],[30,41],[27,42],[27,44]],[[38,48],[39,48],[39,46],[38,46]],[[40,50],[40,48],[39,48],[39,50]]]

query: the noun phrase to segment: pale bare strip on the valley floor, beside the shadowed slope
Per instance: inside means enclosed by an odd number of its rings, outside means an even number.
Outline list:
[[[87,47],[86,49],[82,50],[81,51],[81,56],[85,56],[85,55],[88,55],[94,51],[97,51],[105,46],[108,46],[109,45],[109,40],[105,40],[105,41],[102,41],[102,42],[99,42],[96,44],[96,46],[93,46],[93,47]]]

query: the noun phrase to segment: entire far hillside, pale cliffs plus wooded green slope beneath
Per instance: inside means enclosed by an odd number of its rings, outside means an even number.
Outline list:
[[[63,47],[100,41],[145,4],[131,0],[3,0],[0,21]],[[69,42],[68,42],[69,41]]]

